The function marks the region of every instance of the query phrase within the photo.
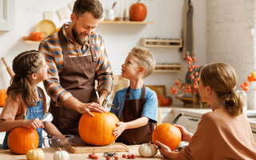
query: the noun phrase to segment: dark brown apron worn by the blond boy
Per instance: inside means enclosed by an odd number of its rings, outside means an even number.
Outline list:
[[[126,91],[126,101],[119,117],[121,122],[130,122],[135,119],[141,118],[143,106],[145,104],[145,90],[146,87],[142,86],[142,94],[140,99],[130,100],[130,86]],[[135,129],[124,130],[118,137],[116,142],[123,142],[127,145],[142,144],[152,141],[152,133],[154,131],[154,124],[147,123]]]

